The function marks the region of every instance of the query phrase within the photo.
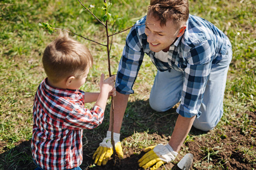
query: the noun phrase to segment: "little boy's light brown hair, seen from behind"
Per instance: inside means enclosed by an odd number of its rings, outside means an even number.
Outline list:
[[[88,48],[71,39],[67,32],[60,32],[59,37],[46,47],[42,61],[44,71],[53,83],[69,76],[77,78],[93,65]]]

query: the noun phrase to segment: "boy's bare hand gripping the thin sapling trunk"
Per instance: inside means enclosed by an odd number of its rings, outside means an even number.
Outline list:
[[[105,79],[105,75],[101,74],[100,88],[106,90],[112,94],[115,94],[115,75]]]

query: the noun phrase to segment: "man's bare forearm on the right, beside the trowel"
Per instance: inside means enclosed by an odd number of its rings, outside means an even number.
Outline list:
[[[169,145],[175,152],[180,150],[181,145],[191,130],[195,118],[196,116],[187,118],[179,114],[174,131],[172,132],[171,139],[169,141]]]

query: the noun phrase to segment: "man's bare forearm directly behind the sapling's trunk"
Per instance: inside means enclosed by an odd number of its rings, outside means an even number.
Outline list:
[[[117,95],[114,97],[114,133],[120,133],[123,115],[125,114],[125,110],[127,107],[129,95],[123,95],[117,92]],[[110,122],[109,122],[109,131],[112,131],[112,116],[110,114]]]

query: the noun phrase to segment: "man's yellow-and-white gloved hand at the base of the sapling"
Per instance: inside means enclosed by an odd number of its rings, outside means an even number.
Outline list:
[[[123,158],[123,150],[121,146],[121,142],[119,141],[120,134],[114,133],[114,142],[115,142],[115,151],[117,151],[117,155],[120,159]],[[106,138],[100,143],[100,146],[93,154],[94,164],[97,165],[106,165],[108,160],[111,158],[113,154],[113,148],[111,146],[111,131],[107,132]]]

